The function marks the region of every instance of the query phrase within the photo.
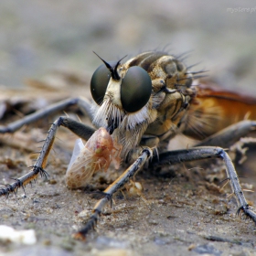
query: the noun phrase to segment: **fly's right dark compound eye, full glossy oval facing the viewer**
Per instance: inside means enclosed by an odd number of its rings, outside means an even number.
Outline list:
[[[137,112],[144,107],[152,92],[152,81],[141,67],[128,69],[121,85],[121,101],[126,112]]]

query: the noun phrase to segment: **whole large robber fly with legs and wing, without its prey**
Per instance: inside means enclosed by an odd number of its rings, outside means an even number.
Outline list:
[[[121,157],[123,162],[133,161],[123,175],[103,191],[103,197],[95,205],[87,224],[75,237],[85,238],[96,225],[102,208],[112,200],[113,194],[150,157],[153,158],[149,165],[174,165],[210,157],[222,158],[229,184],[238,201],[238,213],[243,212],[256,222],[256,213],[244,197],[234,165],[222,148],[233,144],[255,128],[256,121],[253,120],[256,120],[256,100],[208,84],[197,85],[195,80],[201,76],[202,71],[190,71],[181,60],[165,52],[144,52],[124,63],[122,59],[109,63],[101,60],[103,64],[91,78],[91,95],[94,100],[92,104],[81,97],[68,99],[0,127],[0,133],[14,133],[24,124],[35,122],[69,105],[78,104],[89,115],[92,124],[106,129],[112,136],[113,144],[116,142],[118,145],[113,145],[114,152],[108,149],[108,154],[113,154],[113,159]],[[47,176],[45,168],[48,154],[60,125],[85,140],[89,140],[95,132],[94,128],[69,117],[59,117],[51,125],[32,170],[17,178],[14,183],[1,188],[1,196],[16,192],[17,188],[24,187],[38,174]],[[184,133],[200,142],[196,147],[185,150],[166,151],[168,142],[177,133]],[[152,148],[155,147],[158,155],[153,154]],[[92,152],[93,155],[94,153]],[[75,167],[79,164],[79,160],[73,164],[74,170],[79,169]],[[100,168],[100,165],[93,166]],[[101,167],[104,169],[106,166]],[[92,171],[87,171],[88,176],[91,176]],[[83,184],[78,184],[78,187],[80,185]],[[69,186],[77,187],[73,182]]]

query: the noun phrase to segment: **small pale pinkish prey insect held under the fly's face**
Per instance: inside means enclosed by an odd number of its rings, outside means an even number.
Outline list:
[[[85,187],[97,171],[107,171],[111,163],[119,168],[122,146],[117,144],[105,128],[100,128],[83,145],[77,141],[66,173],[70,188]]]

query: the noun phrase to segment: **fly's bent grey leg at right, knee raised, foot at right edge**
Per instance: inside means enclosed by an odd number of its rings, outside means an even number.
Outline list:
[[[251,210],[249,204],[244,197],[242,189],[240,187],[240,180],[234,165],[229,155],[224,151],[223,148],[213,146],[201,146],[194,147],[185,150],[176,150],[165,152],[159,155],[159,158],[154,158],[153,164],[155,165],[175,165],[184,162],[190,162],[194,160],[208,159],[208,158],[222,158],[226,165],[227,176],[232,189],[233,194],[236,196],[238,201],[238,211],[243,211],[246,216],[256,222],[256,213]]]

